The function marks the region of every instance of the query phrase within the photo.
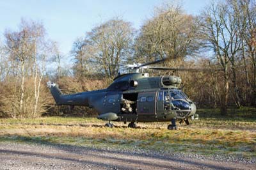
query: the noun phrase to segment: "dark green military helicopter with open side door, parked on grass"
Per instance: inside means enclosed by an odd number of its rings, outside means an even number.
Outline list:
[[[167,128],[177,130],[177,120],[189,125],[189,118],[198,119],[196,105],[179,88],[180,77],[150,77],[140,72],[145,69],[191,70],[149,66],[164,60],[127,65],[133,72],[118,74],[106,89],[64,95],[54,82],[47,82],[47,86],[57,105],[95,108],[99,112],[98,119],[109,121],[105,127],[113,127],[112,121],[130,122],[128,127],[131,128],[136,128],[137,122],[171,121]]]

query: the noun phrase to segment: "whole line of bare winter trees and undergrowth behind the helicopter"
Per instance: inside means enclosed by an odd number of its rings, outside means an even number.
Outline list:
[[[0,114],[36,117],[56,112],[45,87],[52,79],[61,88],[86,91],[106,88],[125,72],[127,63],[166,58],[163,66],[218,68],[212,72],[153,72],[179,75],[182,89],[198,107],[256,105],[256,2],[213,1],[200,15],[182,10],[180,4],[163,3],[140,29],[120,17],[92,28],[73,43],[64,61],[58,44],[46,36],[42,22],[21,20],[17,31],[6,29],[0,43]],[[47,65],[56,63],[52,75]],[[79,110],[81,111],[81,110]]]

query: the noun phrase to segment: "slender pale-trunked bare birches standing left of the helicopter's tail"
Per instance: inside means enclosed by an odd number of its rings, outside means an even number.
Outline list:
[[[15,95],[20,93],[20,101],[19,109],[13,106],[17,109],[13,112],[17,112],[19,116],[35,117],[38,115],[40,84],[44,76],[44,63],[47,57],[44,26],[42,23],[33,20],[22,20],[19,31],[8,30],[4,35],[9,60],[17,66],[12,67],[12,69],[17,70],[17,75],[20,76],[14,77],[20,82],[20,90],[17,93],[15,92]],[[32,92],[30,86],[25,87],[25,78],[28,81],[33,79],[33,93],[29,93]],[[28,89],[28,91],[25,91],[25,89]],[[33,94],[34,99],[29,94]],[[15,100],[15,97],[12,99]],[[13,114],[13,117],[16,117],[17,114]]]

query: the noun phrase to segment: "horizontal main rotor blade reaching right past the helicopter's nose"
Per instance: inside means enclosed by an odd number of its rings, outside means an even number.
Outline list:
[[[173,71],[188,71],[188,72],[218,72],[220,68],[171,68],[164,66],[149,66],[148,68],[153,70],[173,70]]]

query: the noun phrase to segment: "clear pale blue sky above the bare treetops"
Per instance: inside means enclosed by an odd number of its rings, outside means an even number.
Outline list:
[[[150,19],[154,7],[163,0],[0,0],[0,41],[6,29],[16,31],[20,20],[43,22],[47,36],[58,43],[63,55],[68,55],[79,36],[101,22],[116,16],[140,29]],[[184,11],[198,15],[210,0],[183,0]]]

